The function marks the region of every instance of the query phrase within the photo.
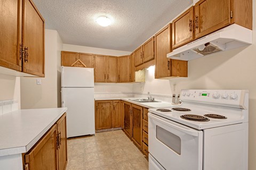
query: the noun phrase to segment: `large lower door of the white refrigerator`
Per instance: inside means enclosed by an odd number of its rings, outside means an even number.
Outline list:
[[[61,105],[67,107],[67,137],[95,134],[94,88],[61,88]]]

